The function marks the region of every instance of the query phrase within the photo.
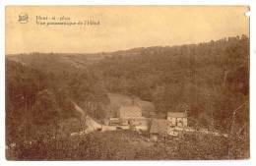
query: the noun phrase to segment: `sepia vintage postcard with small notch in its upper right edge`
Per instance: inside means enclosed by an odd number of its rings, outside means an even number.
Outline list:
[[[7,160],[250,158],[248,6],[7,6]]]

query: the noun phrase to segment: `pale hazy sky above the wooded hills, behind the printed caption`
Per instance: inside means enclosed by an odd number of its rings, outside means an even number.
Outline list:
[[[198,43],[249,34],[247,7],[73,6],[7,7],[6,53],[108,52],[134,47]],[[19,15],[29,16],[27,24]],[[38,26],[36,16],[94,20],[99,26]],[[45,21],[40,21],[40,23]],[[46,22],[53,22],[47,19]]]

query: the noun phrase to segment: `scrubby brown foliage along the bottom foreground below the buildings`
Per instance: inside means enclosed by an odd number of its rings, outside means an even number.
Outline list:
[[[147,134],[96,132],[88,136],[37,140],[7,150],[15,160],[158,160],[247,158],[245,141],[207,135],[182,135],[151,141]],[[233,140],[232,140],[233,141]],[[229,149],[229,151],[228,151]],[[10,158],[9,158],[10,157]]]

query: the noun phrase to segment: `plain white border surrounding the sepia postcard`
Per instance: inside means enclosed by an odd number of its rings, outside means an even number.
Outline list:
[[[0,165],[231,165],[231,166],[242,166],[242,165],[255,165],[256,164],[256,134],[253,130],[256,129],[256,119],[255,108],[256,102],[256,40],[255,40],[255,29],[256,29],[256,1],[253,0],[214,0],[209,2],[207,0],[2,0],[0,2]],[[250,149],[251,149],[251,159],[249,160],[237,160],[237,161],[55,161],[55,162],[20,162],[20,161],[7,161],[5,159],[5,6],[6,5],[249,5],[250,6]]]

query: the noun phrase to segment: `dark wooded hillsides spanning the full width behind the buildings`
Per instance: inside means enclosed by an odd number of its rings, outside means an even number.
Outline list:
[[[249,38],[97,54],[7,55],[7,144],[56,136],[60,123],[80,118],[73,102],[102,120],[109,92],[150,101],[157,115],[186,110],[189,126],[239,132],[248,142]]]

